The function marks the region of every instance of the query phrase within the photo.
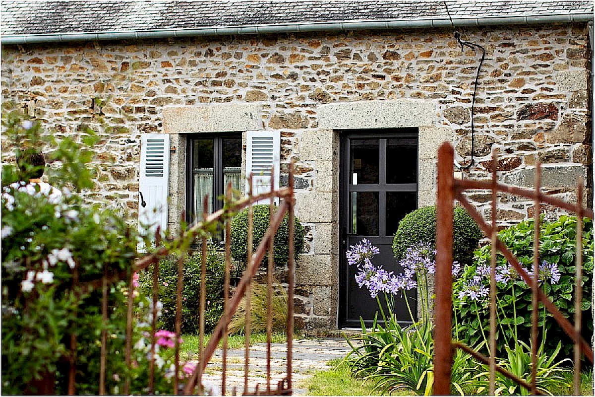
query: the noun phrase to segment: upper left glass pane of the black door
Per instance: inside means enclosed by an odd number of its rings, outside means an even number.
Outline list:
[[[351,140],[351,176],[350,182],[380,182],[380,141],[378,139]],[[353,177],[353,174],[357,174]],[[355,182],[357,181],[357,182]]]

